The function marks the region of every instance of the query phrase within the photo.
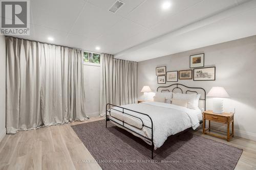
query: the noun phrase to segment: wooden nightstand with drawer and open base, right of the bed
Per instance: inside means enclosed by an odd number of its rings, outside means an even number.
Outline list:
[[[209,121],[208,129],[205,129],[205,122],[206,122],[205,120]],[[211,121],[227,124],[227,137],[210,133],[209,131],[210,131],[210,122]],[[232,133],[231,134],[229,133],[230,123],[232,123]],[[233,113],[225,113],[225,112],[221,113],[221,114],[217,114],[217,113],[213,113],[211,110],[204,111],[203,112],[203,134],[219,137],[219,138],[226,139],[227,141],[229,141],[230,137],[234,136],[234,114]]]

